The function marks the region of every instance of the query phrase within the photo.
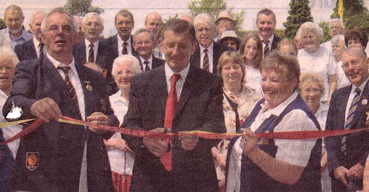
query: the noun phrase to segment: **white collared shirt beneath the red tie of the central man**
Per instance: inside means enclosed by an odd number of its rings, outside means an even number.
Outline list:
[[[176,91],[177,91],[178,100],[180,99],[183,84],[184,84],[184,81],[186,80],[188,70],[189,70],[189,63],[188,63],[186,68],[184,68],[179,73],[176,73],[176,74],[181,75],[181,78],[176,83]],[[169,67],[168,63],[166,63],[166,62],[165,62],[165,65],[164,65],[164,71],[165,71],[165,79],[166,79],[166,82],[167,82],[167,91],[168,91],[168,94],[169,94],[170,87],[172,86],[172,75],[175,74],[175,72]]]

